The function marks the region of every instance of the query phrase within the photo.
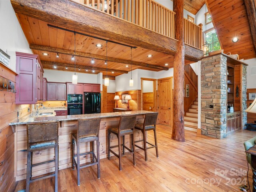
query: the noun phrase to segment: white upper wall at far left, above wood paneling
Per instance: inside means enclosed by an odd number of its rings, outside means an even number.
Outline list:
[[[30,53],[29,44],[10,0],[0,0],[0,48],[10,55],[10,68],[16,71],[16,53]]]

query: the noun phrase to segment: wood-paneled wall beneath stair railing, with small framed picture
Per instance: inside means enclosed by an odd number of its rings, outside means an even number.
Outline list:
[[[184,88],[186,89],[186,85],[189,85],[189,97],[184,97],[184,111],[186,112],[190,105],[194,102],[194,100],[198,97],[197,87],[190,80],[190,78],[185,74],[184,75]],[[186,95],[186,93],[185,93]]]

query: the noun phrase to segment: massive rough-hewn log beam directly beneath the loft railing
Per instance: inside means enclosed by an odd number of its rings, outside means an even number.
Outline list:
[[[11,0],[11,3],[16,13],[58,26],[85,31],[125,44],[132,43],[133,46],[168,55],[174,55],[177,51],[178,41],[175,39],[77,2],[70,0]],[[185,45],[185,59],[198,61],[202,56],[202,50]]]

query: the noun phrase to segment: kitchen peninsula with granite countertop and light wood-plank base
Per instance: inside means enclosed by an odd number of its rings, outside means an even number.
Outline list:
[[[26,124],[32,122],[50,122],[58,121],[59,123],[59,169],[65,169],[72,166],[72,148],[71,134],[76,133],[77,120],[82,118],[101,118],[100,122],[100,158],[107,157],[107,130],[108,128],[117,127],[121,115],[135,114],[137,115],[137,123],[143,122],[144,114],[152,113],[149,111],[128,111],[100,114],[84,114],[84,115],[69,115],[69,116],[52,116],[52,117],[27,117],[19,122],[12,122],[14,134],[14,162],[16,181],[26,179],[26,148],[27,148],[27,132]],[[142,139],[141,131],[135,132],[135,140]],[[116,136],[111,136],[111,142],[117,143]],[[130,144],[130,138],[125,139],[126,145]],[[88,151],[89,143],[80,146],[80,152]],[[76,150],[76,149],[75,149]],[[115,148],[114,151],[118,151]],[[90,157],[90,156],[89,156]],[[80,162],[86,163],[90,160],[88,156],[81,156]],[[54,159],[54,150],[47,149],[33,153],[33,164]],[[33,176],[39,176],[54,171],[54,162],[36,166],[33,168]]]

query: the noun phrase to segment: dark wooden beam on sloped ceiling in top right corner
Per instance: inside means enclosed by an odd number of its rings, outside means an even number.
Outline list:
[[[256,52],[256,1],[255,0],[244,0],[246,12],[248,15],[248,21],[250,30],[252,33],[252,41],[254,44],[254,50]]]

